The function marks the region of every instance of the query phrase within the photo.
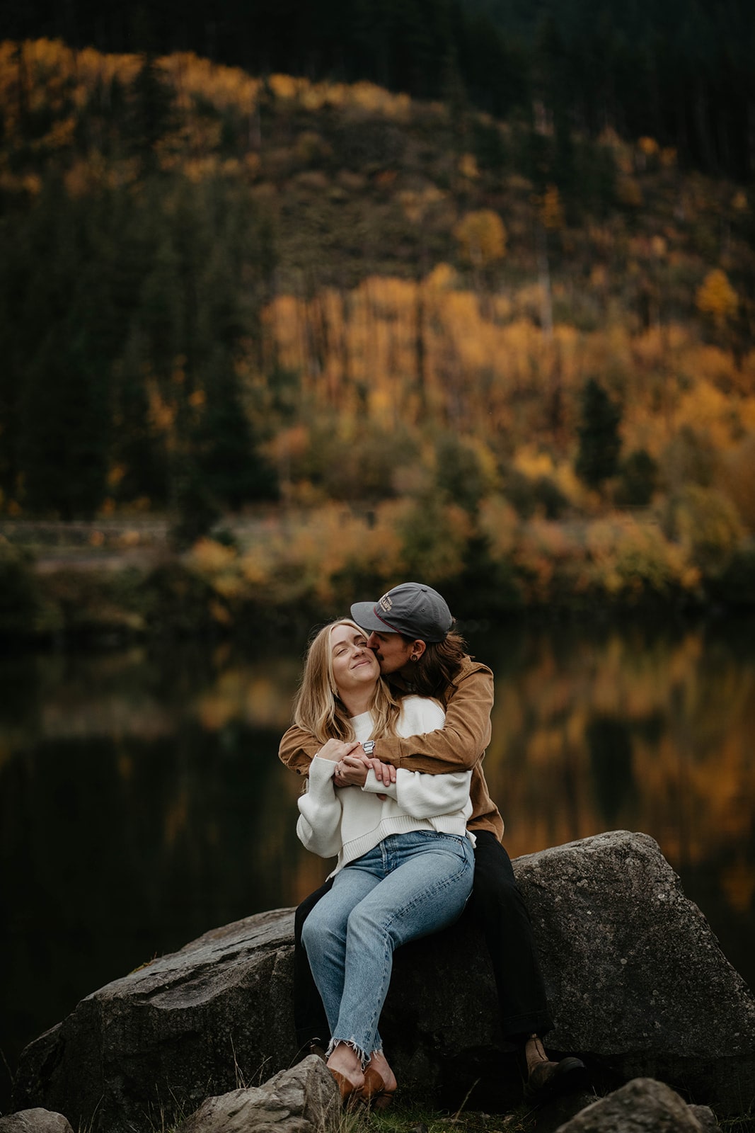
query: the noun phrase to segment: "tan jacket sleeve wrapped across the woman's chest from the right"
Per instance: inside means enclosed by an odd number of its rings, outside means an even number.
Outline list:
[[[372,755],[394,767],[431,775],[470,770],[490,742],[492,695],[491,671],[486,665],[473,665],[446,693],[443,727],[409,739],[376,740]]]

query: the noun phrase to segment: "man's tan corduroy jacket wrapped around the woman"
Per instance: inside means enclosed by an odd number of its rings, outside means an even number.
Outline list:
[[[395,683],[400,687],[401,682]],[[437,732],[409,739],[386,736],[376,740],[372,755],[384,764],[412,772],[429,772],[431,775],[471,769],[472,817],[467,828],[490,830],[500,841],[504,820],[488,793],[482,770],[484,749],[490,741],[492,692],[494,679],[488,666],[464,657],[460,672],[438,696],[446,712],[445,726]],[[320,747],[321,743],[309,732],[294,725],[281,740],[278,756],[291,770],[307,775],[310,760]]]

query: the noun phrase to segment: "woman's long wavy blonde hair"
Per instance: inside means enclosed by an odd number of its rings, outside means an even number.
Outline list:
[[[293,705],[293,722],[310,732],[316,740],[353,740],[354,730],[349,712],[342,701],[333,678],[331,632],[336,625],[352,625],[358,633],[364,631],[350,617],[338,617],[315,634],[307,650],[301,684]],[[396,735],[400,704],[381,676],[375,682],[370,709],[375,721],[372,739]]]

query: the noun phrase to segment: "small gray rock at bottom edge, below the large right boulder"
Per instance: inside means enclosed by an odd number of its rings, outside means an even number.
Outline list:
[[[557,1133],[706,1133],[710,1128],[663,1082],[637,1077],[587,1106]]]

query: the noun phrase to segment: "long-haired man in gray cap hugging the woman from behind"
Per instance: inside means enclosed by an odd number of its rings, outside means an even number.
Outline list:
[[[525,1077],[529,1100],[541,1100],[572,1088],[584,1072],[578,1058],[551,1062],[540,1037],[552,1026],[534,948],[530,917],[516,886],[514,871],[501,845],[504,823],[488,794],[482,758],[490,740],[494,678],[487,665],[465,651],[463,638],[453,632],[453,617],[444,598],[432,587],[403,582],[376,603],[359,602],[351,616],[369,633],[380,672],[398,695],[414,692],[435,697],[443,705],[444,727],[424,735],[385,736],[362,744],[344,744],[337,765],[336,786],[361,783],[359,768],[368,756],[379,759],[384,782],[395,780],[396,768],[439,774],[472,770],[474,833],[474,887],[469,912],[482,929],[496,978],[500,1025],[514,1043]],[[284,734],[280,758],[292,770],[307,775],[319,744],[293,726]],[[352,773],[354,778],[352,780]],[[327,1023],[301,947],[302,925],[331,883],[307,897],[297,910],[294,951],[294,1021],[301,1047],[326,1046]]]

